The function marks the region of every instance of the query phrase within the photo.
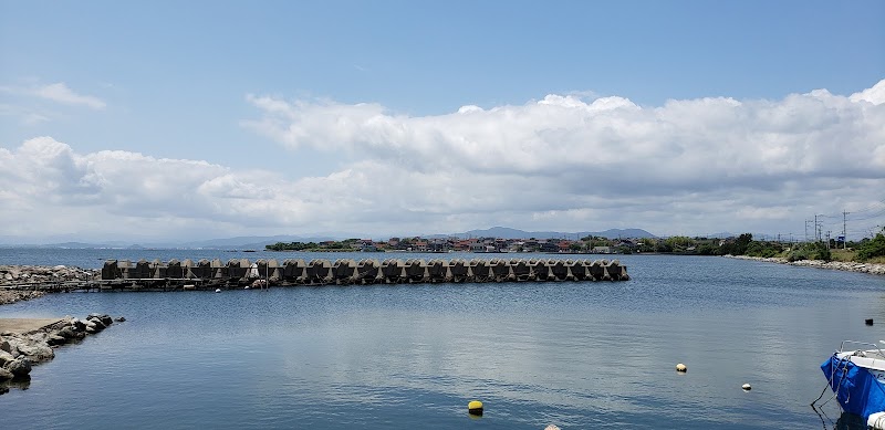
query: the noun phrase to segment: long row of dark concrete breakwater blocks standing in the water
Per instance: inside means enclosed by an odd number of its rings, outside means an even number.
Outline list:
[[[216,289],[264,285],[362,285],[457,282],[627,281],[618,261],[587,260],[258,260],[160,262],[108,260],[101,289]]]

